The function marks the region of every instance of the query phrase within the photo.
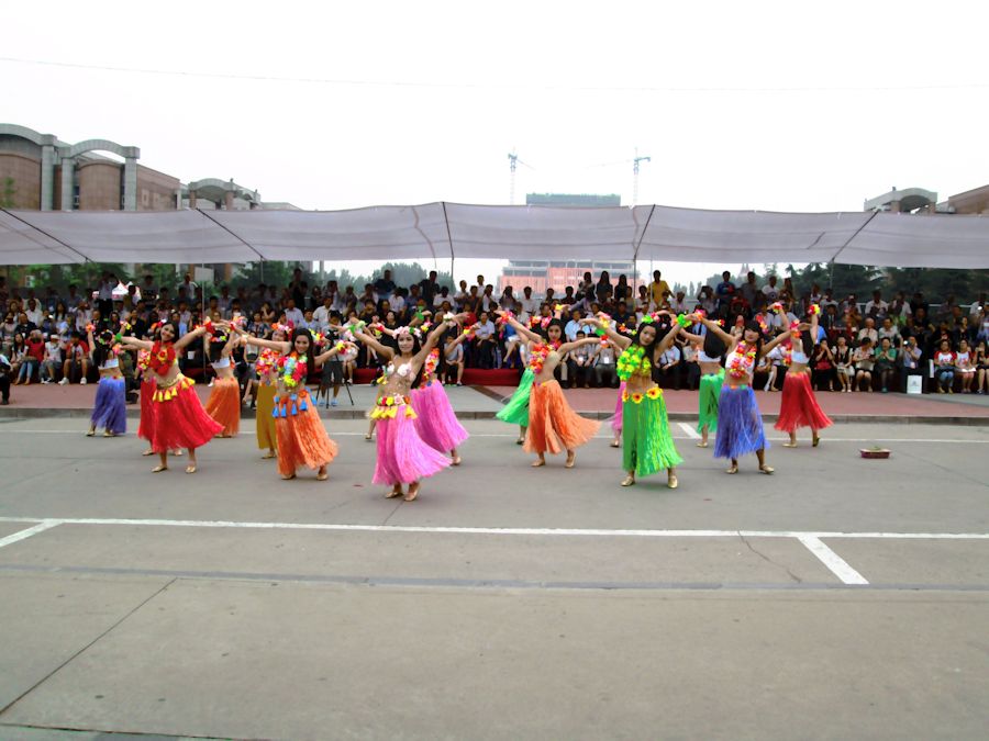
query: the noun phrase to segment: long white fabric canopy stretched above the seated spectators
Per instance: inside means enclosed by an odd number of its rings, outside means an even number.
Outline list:
[[[416,258],[989,268],[989,220],[446,202],[348,211],[0,210],[0,265]]]

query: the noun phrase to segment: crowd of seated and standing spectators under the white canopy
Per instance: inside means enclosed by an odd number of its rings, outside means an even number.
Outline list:
[[[247,329],[259,337],[270,337],[276,324],[291,324],[334,339],[357,322],[396,328],[430,314],[465,313],[467,326],[473,326],[470,339],[454,343],[451,336],[443,346],[444,370],[451,382],[459,383],[465,368],[524,366],[525,344],[511,326],[497,322],[497,311],[512,311],[523,323],[559,312],[566,339],[573,340],[584,336],[586,326],[580,319],[598,312],[609,314],[619,332],[630,335],[646,313],[667,310],[680,314],[694,307],[722,319],[731,332],[741,332],[744,322],[762,315],[768,332],[775,334],[804,317],[812,304],[822,310],[820,344],[811,359],[819,390],[904,391],[910,375],[921,377],[924,385],[933,383],[943,393],[985,393],[989,386],[985,293],[967,306],[947,296],[932,311],[921,293],[908,299],[899,292],[887,302],[877,290],[862,302],[858,296],[837,297],[831,289],[813,285],[798,295],[790,278],[780,282],[770,274],[759,285],[756,274],[749,272],[736,285],[725,271],[713,288],[704,285],[696,296],[687,296],[684,291],[673,291],[658,270],[636,290],[626,276],[612,281],[607,271],[597,278],[586,272],[577,285],[567,285],[560,293],[547,289],[543,296],[534,295],[529,287],[518,294],[511,287],[496,294],[484,276],[477,276],[474,284],[462,280],[452,289],[438,284],[435,271],[399,287],[385,270],[358,293],[355,287],[341,288],[333,280],[310,285],[301,269],[288,285],[222,285],[209,295],[188,274],[175,285],[158,285],[152,276],[124,285],[118,276],[104,272],[96,285],[69,285],[64,292],[53,287],[42,291],[11,288],[0,278],[0,305],[5,308],[0,316],[0,385],[5,400],[10,383],[95,380],[86,344],[89,325],[96,330],[116,330],[126,324],[129,332],[143,336],[154,323],[174,321],[184,334],[205,318],[243,315]],[[769,311],[773,306],[776,311]],[[387,334],[382,338],[389,340]],[[242,383],[252,374],[251,352],[245,353],[244,348],[236,351]],[[568,386],[616,386],[616,355],[607,341],[582,346],[562,363],[560,380]],[[190,345],[180,362],[188,374],[202,372],[207,366],[202,344]],[[766,390],[779,388],[785,362],[784,352],[766,359],[759,377],[760,382],[767,379]],[[374,351],[362,347],[356,358],[346,359],[344,370],[353,380],[357,368],[378,364]],[[700,375],[696,350],[677,343],[664,355],[656,373],[664,385],[696,388]],[[126,363],[124,374],[133,382],[132,362]]]

